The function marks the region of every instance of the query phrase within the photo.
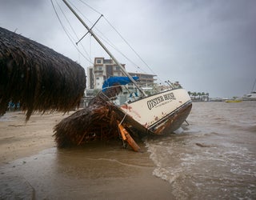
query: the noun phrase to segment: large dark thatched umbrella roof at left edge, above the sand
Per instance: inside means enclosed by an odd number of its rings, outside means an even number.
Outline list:
[[[86,87],[82,66],[54,50],[0,27],[0,115],[20,103],[26,120],[38,110],[74,109]]]

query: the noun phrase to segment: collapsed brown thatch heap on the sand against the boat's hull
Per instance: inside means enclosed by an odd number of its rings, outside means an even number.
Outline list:
[[[121,87],[109,89],[105,94],[93,98],[85,109],[62,119],[54,127],[57,146],[80,146],[94,140],[119,138],[118,120],[122,118],[114,112],[114,107],[107,98],[114,97],[120,91]]]

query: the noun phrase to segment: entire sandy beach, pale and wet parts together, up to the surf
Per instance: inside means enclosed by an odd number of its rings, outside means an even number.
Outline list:
[[[121,142],[57,149],[53,127],[67,115],[21,112],[0,119],[0,199],[171,199],[170,184],[152,175],[154,163]]]

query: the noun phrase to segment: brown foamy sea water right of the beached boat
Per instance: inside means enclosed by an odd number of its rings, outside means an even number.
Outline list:
[[[256,199],[256,102],[197,102],[187,121],[147,140],[153,174],[177,199]]]

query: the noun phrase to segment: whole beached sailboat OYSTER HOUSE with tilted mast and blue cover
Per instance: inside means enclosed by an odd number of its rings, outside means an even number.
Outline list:
[[[82,21],[82,18],[75,12],[75,10],[70,6],[66,0],[62,0],[66,6],[73,12],[73,14],[78,18],[82,25],[86,27],[86,30],[94,37],[94,39],[102,46],[110,58],[120,67],[123,74],[126,74],[126,82],[122,84],[122,81],[113,81],[113,78],[106,80],[106,85],[103,86],[103,90],[98,94],[98,98],[104,99],[108,105],[110,105],[111,110],[114,110],[116,115],[118,129],[122,134],[122,139],[127,141],[134,150],[138,150],[138,146],[130,137],[130,134],[136,134],[139,137],[146,136],[148,134],[162,135],[172,133],[177,130],[186,118],[190,114],[192,107],[192,102],[190,95],[181,86],[172,87],[168,90],[163,90],[156,94],[147,95],[145,91],[138,85],[136,80],[126,72],[124,67],[118,62],[114,55],[104,46],[104,44],[99,40],[94,31]],[[107,95],[106,91],[108,89],[115,90],[115,88],[120,88],[120,85],[125,85],[126,83],[133,83],[138,89],[140,96],[134,98],[134,101],[125,102],[122,105],[117,105],[113,101],[113,95]],[[118,89],[119,90],[119,89]],[[120,90],[116,93],[118,94]],[[94,112],[95,113],[95,112]],[[75,118],[75,117],[74,117]],[[66,122],[68,123],[68,122]],[[55,129],[55,135],[61,138],[61,134],[58,132],[66,131],[64,129],[66,125],[59,125]],[[86,136],[83,135],[83,138]],[[82,139],[83,139],[82,138]],[[82,139],[80,141],[82,141]],[[79,144],[80,144],[79,141]]]

